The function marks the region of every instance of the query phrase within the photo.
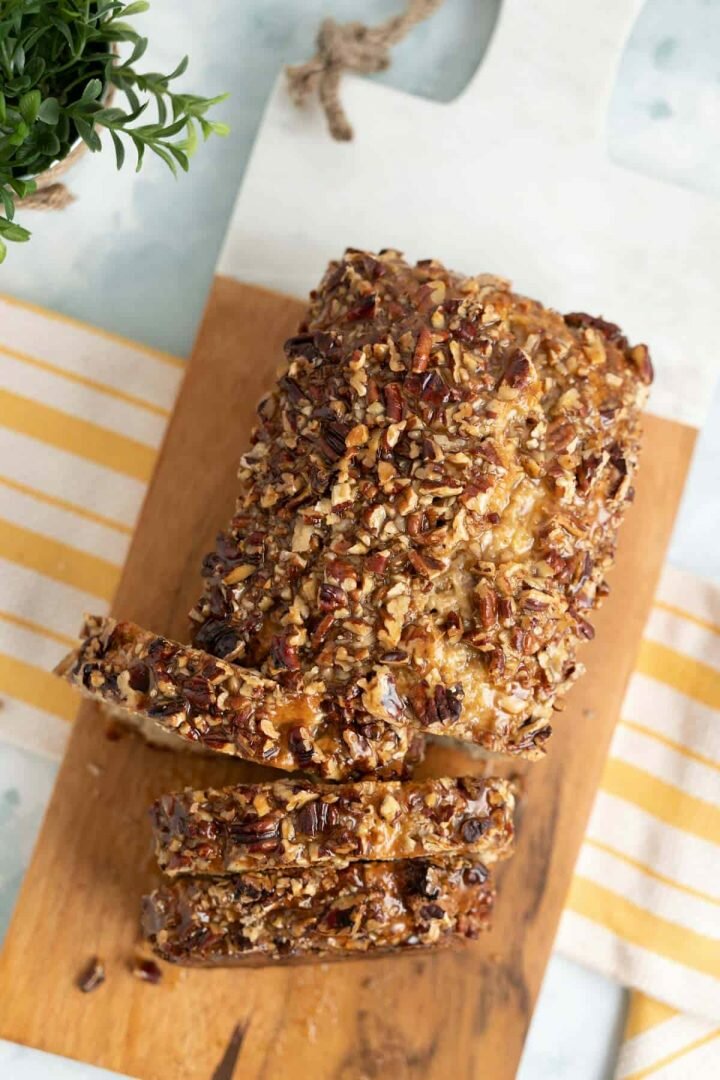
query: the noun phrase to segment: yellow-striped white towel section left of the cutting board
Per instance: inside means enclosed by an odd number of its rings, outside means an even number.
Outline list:
[[[0,296],[0,746],[59,757],[51,674],[106,611],[184,362]]]

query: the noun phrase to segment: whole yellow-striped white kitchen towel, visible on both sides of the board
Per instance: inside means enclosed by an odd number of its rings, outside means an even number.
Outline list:
[[[59,757],[50,674],[118,581],[180,360],[0,297],[0,753]],[[617,1076],[720,1076],[720,592],[666,570],[558,944],[634,987]]]

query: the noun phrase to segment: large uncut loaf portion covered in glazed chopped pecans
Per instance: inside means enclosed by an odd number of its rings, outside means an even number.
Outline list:
[[[535,753],[633,496],[644,346],[489,275],[349,251],[259,407],[195,644],[320,697]]]

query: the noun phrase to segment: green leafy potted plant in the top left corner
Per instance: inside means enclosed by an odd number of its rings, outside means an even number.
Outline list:
[[[85,149],[103,149],[100,129],[118,168],[131,148],[138,170],[151,150],[174,173],[187,171],[199,134],[227,133],[206,117],[226,95],[172,89],[187,56],[169,75],[138,71],[148,41],[126,19],[148,6],[145,0],[0,0],[0,262],[5,241],[30,237],[15,220],[16,206],[52,205],[68,164]]]

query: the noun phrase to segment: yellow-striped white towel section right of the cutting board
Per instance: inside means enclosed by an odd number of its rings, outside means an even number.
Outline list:
[[[557,946],[636,988],[619,1080],[720,1077],[720,590],[666,568]]]

